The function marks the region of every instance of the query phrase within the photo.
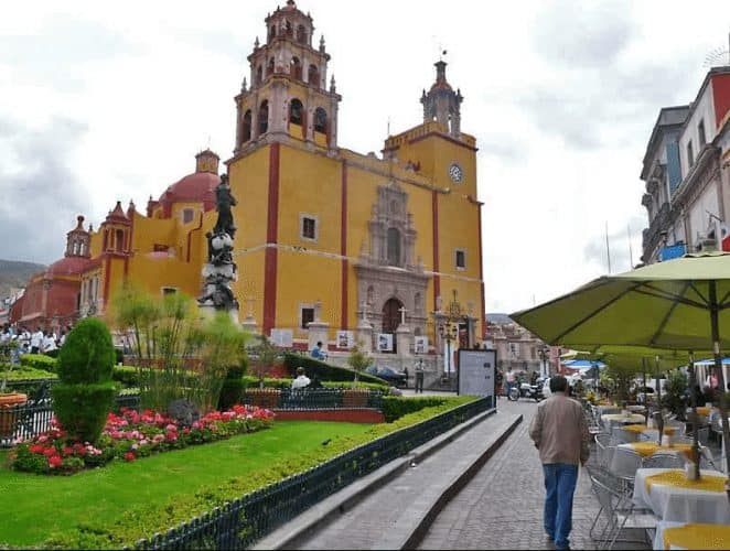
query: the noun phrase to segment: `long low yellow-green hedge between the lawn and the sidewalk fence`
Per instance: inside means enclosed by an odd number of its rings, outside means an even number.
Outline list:
[[[194,495],[178,496],[167,505],[148,505],[143,508],[128,510],[111,525],[97,526],[93,518],[89,518],[84,523],[79,522],[78,527],[69,527],[68,532],[50,536],[41,547],[43,549],[120,549],[125,545],[131,548],[141,538],[149,538],[155,532],[164,532],[168,528],[186,522],[214,507],[221,507],[226,501],[238,499],[265,486],[279,483],[283,478],[303,473],[354,447],[473,400],[476,400],[473,396],[444,398],[444,403],[441,406],[409,413],[393,423],[375,424],[368,431],[359,434],[334,439],[329,445],[304,452],[296,458],[272,458],[265,469],[247,476],[221,480],[221,484],[215,487],[201,487]]]

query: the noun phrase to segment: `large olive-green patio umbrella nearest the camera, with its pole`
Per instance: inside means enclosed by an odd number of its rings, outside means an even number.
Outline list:
[[[605,276],[509,317],[548,344],[577,350],[601,346],[711,350],[723,395],[720,353],[730,350],[730,255],[685,255]],[[727,446],[730,428],[723,396],[720,411]]]

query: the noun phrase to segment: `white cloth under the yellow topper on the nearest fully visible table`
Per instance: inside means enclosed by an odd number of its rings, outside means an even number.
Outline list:
[[[730,523],[730,503],[724,491],[706,491],[662,484],[653,484],[646,491],[644,480],[647,476],[658,475],[677,468],[640,468],[634,483],[634,501],[647,507],[662,520],[676,522],[708,522],[712,525]],[[717,471],[702,469],[702,476],[726,477]]]

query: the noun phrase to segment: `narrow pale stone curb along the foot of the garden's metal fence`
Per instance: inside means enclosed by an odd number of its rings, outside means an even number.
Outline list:
[[[270,534],[261,538],[249,549],[298,549],[296,544],[298,540],[307,537],[308,533],[315,529],[325,526],[335,515],[352,509],[363,498],[398,476],[400,472],[410,468],[410,464],[414,461],[421,462],[452,442],[461,433],[473,428],[475,424],[481,423],[494,413],[496,413],[496,409],[480,413],[458,426],[454,426],[450,431],[414,449],[409,454],[394,460],[377,471],[355,480],[340,491],[326,497],[318,505],[310,507],[304,512],[272,531]],[[519,420],[522,420],[522,415],[519,417]],[[509,431],[511,430],[512,429],[509,429]]]

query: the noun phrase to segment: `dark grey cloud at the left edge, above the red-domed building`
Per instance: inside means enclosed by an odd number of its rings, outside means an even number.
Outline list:
[[[69,169],[85,125],[53,119],[39,130],[21,130],[0,119],[0,258],[49,263],[63,256],[64,236],[88,208]],[[22,170],[18,170],[21,168]]]

